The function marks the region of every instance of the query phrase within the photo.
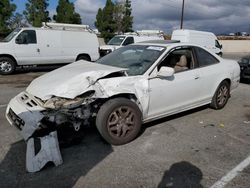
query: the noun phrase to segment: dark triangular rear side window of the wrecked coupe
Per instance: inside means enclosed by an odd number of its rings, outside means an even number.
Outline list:
[[[202,48],[196,47],[195,51],[196,51],[196,57],[197,57],[197,60],[198,60],[200,67],[219,63],[218,59],[216,59],[214,56],[212,56],[206,50],[203,50]]]

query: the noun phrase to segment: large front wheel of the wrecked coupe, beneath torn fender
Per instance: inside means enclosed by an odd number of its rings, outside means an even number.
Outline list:
[[[122,145],[136,138],[141,129],[141,117],[141,111],[134,102],[116,98],[101,106],[96,126],[108,143]]]

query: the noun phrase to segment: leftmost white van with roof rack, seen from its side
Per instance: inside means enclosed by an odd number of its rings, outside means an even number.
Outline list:
[[[99,57],[96,34],[81,25],[18,28],[0,43],[0,74],[11,74],[17,66],[96,61]]]

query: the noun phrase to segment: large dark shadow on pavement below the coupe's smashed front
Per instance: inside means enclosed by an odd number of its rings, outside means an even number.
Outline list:
[[[0,164],[0,187],[73,187],[81,176],[113,152],[95,128],[87,128],[86,132],[80,144],[61,149],[62,165],[47,166],[37,173],[25,170],[26,143],[12,144]]]

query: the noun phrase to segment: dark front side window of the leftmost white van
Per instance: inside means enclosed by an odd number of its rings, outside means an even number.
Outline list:
[[[18,44],[36,44],[36,32],[34,30],[25,30],[16,38]]]

